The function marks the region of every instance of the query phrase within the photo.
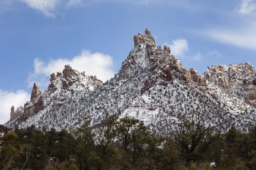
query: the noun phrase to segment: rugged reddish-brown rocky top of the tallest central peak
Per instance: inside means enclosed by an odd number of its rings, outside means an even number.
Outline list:
[[[171,81],[177,78],[186,83],[207,86],[206,78],[201,77],[193,68],[189,70],[184,68],[180,60],[171,55],[169,46],[164,45],[164,49],[156,46],[155,39],[148,29],[145,30],[144,35],[139,33],[138,36],[134,36],[134,49],[123,62],[118,75],[121,78],[127,78],[145,71],[150,74],[147,82],[161,80],[161,82],[158,81],[159,84],[166,85],[162,80]]]

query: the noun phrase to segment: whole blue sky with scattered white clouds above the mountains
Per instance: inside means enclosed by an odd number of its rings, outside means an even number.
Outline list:
[[[1,0],[0,124],[70,64],[107,80],[148,28],[187,69],[256,66],[255,0]]]

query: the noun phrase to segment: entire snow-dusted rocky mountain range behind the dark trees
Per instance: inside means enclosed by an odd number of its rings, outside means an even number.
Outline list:
[[[225,132],[231,126],[246,131],[256,122],[256,79],[253,66],[232,64],[198,72],[182,66],[170,48],[156,46],[150,31],[134,36],[134,49],[115,77],[102,83],[95,76],[65,66],[51,74],[44,93],[33,87],[24,108],[11,109],[6,125],[56,130],[76,127],[81,118],[99,124],[106,113],[143,120],[152,131],[166,134],[180,115],[200,113],[209,125]]]

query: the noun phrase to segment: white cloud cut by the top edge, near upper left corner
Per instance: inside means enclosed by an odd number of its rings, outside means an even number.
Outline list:
[[[54,18],[54,10],[57,4],[60,3],[61,0],[21,0],[22,2],[28,4],[30,8],[35,10],[39,10],[46,17]]]

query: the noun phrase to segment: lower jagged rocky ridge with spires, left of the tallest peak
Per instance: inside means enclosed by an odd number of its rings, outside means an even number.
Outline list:
[[[29,117],[33,117],[39,111],[43,110],[47,105],[56,106],[65,100],[67,92],[72,90],[88,90],[92,91],[102,85],[102,81],[98,80],[96,76],[86,76],[85,73],[79,73],[72,69],[69,65],[65,66],[62,74],[51,74],[51,83],[44,94],[38,89],[34,83],[30,101],[20,106],[15,110],[14,106],[11,108],[10,122],[20,123],[26,121]]]

